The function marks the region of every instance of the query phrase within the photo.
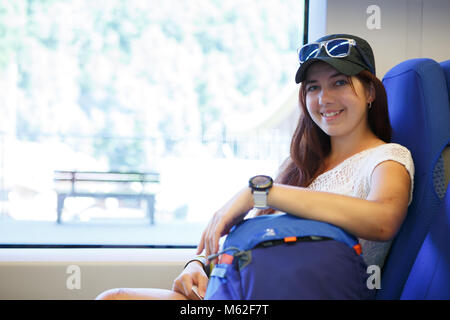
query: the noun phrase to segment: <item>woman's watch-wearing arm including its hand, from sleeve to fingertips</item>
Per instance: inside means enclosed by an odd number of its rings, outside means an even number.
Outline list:
[[[380,163],[373,171],[367,200],[274,184],[268,205],[305,219],[331,223],[368,240],[387,241],[406,215],[411,180],[405,167],[395,161]],[[253,208],[250,188],[241,190],[217,211],[202,234],[198,253],[217,253],[219,239]]]

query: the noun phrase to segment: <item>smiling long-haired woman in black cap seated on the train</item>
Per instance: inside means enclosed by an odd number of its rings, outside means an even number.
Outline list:
[[[359,37],[335,34],[303,46],[299,59],[303,112],[291,156],[264,199],[269,209],[258,214],[282,211],[338,226],[360,238],[367,265],[382,267],[411,202],[414,165],[406,148],[389,143],[372,49]],[[214,214],[197,254],[216,254],[219,239],[254,206],[252,189],[243,188]],[[100,298],[198,299],[207,288],[205,266],[200,258],[188,262],[173,291],[114,289]]]

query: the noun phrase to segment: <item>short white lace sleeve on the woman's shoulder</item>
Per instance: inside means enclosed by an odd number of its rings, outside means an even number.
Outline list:
[[[411,178],[411,190],[409,194],[408,205],[411,204],[412,194],[414,188],[414,162],[411,156],[411,152],[403,147],[402,145],[396,143],[388,143],[379,148],[369,159],[368,162],[368,172],[369,183],[372,178],[373,170],[382,162],[393,160],[402,164],[409,173]]]

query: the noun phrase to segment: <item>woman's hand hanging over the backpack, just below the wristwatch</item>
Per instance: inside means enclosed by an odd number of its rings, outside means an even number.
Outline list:
[[[203,231],[197,254],[203,250],[206,251],[207,257],[217,253],[220,237],[228,234],[231,227],[241,221],[253,206],[251,189],[246,187],[214,214]]]

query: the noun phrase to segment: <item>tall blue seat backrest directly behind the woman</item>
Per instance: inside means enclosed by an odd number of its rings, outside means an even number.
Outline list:
[[[377,299],[399,299],[442,202],[433,184],[433,170],[450,137],[450,107],[444,72],[434,60],[404,61],[385,75],[383,84],[392,142],[411,151],[415,166],[413,201],[392,243],[377,292]]]

